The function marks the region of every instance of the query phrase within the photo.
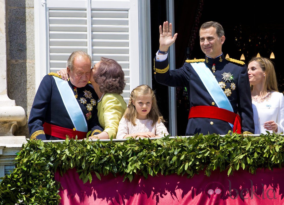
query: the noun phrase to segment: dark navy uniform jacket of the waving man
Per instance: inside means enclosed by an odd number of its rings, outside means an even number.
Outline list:
[[[231,62],[234,61],[234,62]],[[215,72],[213,75],[218,82],[225,82],[223,78],[224,72],[233,76],[233,82],[236,85],[235,90],[231,89],[231,82],[226,81],[225,89],[231,90],[231,95],[227,96],[234,113],[238,113],[241,118],[242,133],[254,133],[254,120],[252,110],[252,97],[249,86],[249,78],[247,74],[247,66],[239,64],[240,61],[231,59],[226,60],[222,54],[216,59],[206,57],[204,63],[211,70],[213,63],[215,63]],[[200,62],[200,61],[199,61]],[[238,63],[239,62],[239,63]],[[190,107],[192,106],[216,106],[216,103],[205,88],[201,79],[192,68],[190,63],[185,62],[184,65],[176,70],[168,70],[168,58],[165,61],[159,62],[154,59],[155,63],[155,79],[158,83],[171,87],[186,87]],[[225,91],[225,89],[223,89]],[[219,119],[211,118],[190,118],[187,124],[186,135],[195,135],[196,133],[220,134],[226,135],[228,131],[232,130],[228,122]]]

